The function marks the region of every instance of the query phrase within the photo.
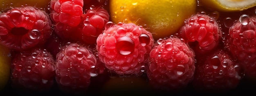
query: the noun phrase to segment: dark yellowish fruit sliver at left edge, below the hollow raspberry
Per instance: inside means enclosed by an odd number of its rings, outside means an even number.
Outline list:
[[[0,92],[7,85],[10,69],[11,69],[11,57],[8,56],[10,50],[0,45]]]

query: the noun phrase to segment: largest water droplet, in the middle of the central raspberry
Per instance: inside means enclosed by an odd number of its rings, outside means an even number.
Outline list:
[[[129,37],[120,37],[117,39],[116,48],[119,54],[129,55],[134,51],[135,44]]]

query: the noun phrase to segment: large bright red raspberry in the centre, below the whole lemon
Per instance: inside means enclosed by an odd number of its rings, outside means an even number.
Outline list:
[[[149,31],[134,23],[109,22],[97,38],[98,56],[106,68],[118,75],[139,76],[153,46]]]

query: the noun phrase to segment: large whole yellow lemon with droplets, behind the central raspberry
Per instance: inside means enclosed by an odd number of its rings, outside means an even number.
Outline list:
[[[110,0],[110,20],[133,22],[150,31],[155,40],[173,35],[195,13],[196,0]]]

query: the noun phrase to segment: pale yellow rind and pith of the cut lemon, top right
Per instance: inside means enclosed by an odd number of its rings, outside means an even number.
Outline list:
[[[227,0],[227,2],[230,2],[233,4],[235,3],[240,3],[241,1],[244,0]],[[256,1],[255,0],[247,0],[251,2],[249,5],[243,6],[243,7],[230,7],[230,4],[224,4],[220,3],[218,0],[199,0],[199,3],[204,6],[207,9],[214,10],[214,11],[223,11],[223,12],[232,12],[232,11],[243,11],[246,9],[249,9],[251,7],[256,6]]]

